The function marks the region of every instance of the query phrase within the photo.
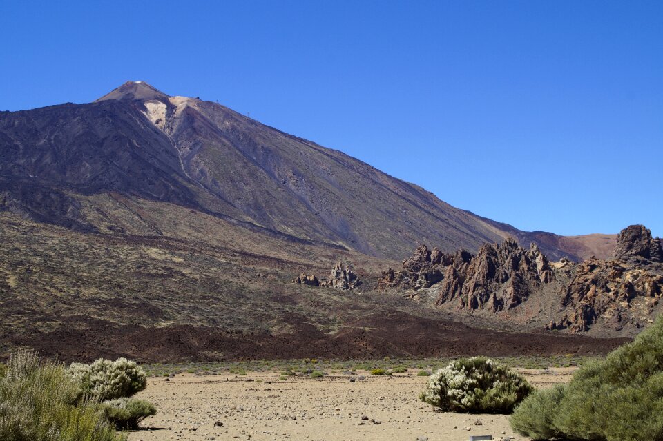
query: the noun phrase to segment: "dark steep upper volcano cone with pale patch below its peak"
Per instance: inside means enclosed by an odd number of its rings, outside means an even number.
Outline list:
[[[121,232],[99,202],[117,193],[389,259],[420,243],[478,251],[506,237],[554,258],[588,257],[550,233],[454,208],[338,150],[142,81],[90,104],[0,112],[0,151],[0,208],[77,231]]]

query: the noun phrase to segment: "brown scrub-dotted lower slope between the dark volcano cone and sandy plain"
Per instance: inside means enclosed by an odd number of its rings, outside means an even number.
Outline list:
[[[17,347],[66,361],[597,355],[624,342],[479,329],[374,290],[379,269],[396,262],[296,244],[164,202],[113,195],[96,206],[133,233],[0,213],[0,358]],[[147,234],[153,229],[162,234]],[[338,261],[354,268],[360,287],[293,282],[300,271],[329,274]]]

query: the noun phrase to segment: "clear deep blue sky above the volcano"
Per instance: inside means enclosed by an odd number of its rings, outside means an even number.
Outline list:
[[[523,230],[663,235],[662,1],[1,1],[0,35],[0,110],[142,80]]]

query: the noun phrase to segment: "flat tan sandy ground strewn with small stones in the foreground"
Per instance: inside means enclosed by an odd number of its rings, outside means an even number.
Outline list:
[[[567,382],[573,369],[522,371],[537,387]],[[357,378],[362,373],[355,376]],[[364,373],[365,375],[365,373]],[[414,373],[348,375],[323,379],[278,373],[235,376],[177,375],[151,379],[138,398],[159,413],[131,432],[129,441],[153,440],[469,440],[515,437],[506,415],[436,412],[419,402],[426,377]],[[368,420],[362,420],[362,417]],[[222,427],[215,427],[221,422]],[[469,429],[469,430],[468,430]]]

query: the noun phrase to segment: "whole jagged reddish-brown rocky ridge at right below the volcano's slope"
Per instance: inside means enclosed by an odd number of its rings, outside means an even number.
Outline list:
[[[662,256],[660,239],[641,225],[619,233],[611,259],[591,257],[579,264],[564,258],[549,262],[536,244],[527,249],[510,238],[482,246],[477,255],[430,253],[419,246],[401,271],[384,271],[377,288],[430,288],[436,306],[533,321],[546,329],[579,333],[599,324],[635,332],[658,311]],[[530,315],[528,304],[536,306]]]

